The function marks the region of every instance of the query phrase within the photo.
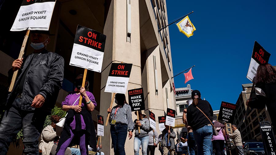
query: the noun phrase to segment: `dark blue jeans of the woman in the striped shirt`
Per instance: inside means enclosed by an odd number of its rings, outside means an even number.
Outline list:
[[[125,139],[128,134],[128,125],[110,125],[110,134],[114,149],[114,155],[125,155]]]

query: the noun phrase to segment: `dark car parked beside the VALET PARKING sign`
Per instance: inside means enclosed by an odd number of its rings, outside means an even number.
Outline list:
[[[243,146],[244,155],[264,155],[263,142],[247,142]]]

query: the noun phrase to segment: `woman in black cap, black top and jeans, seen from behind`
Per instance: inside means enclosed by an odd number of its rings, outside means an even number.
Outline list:
[[[213,126],[209,120],[212,120],[213,109],[208,101],[201,99],[198,90],[192,91],[192,99],[193,103],[187,108],[187,123],[193,128],[198,155],[210,155],[213,152],[211,141]]]

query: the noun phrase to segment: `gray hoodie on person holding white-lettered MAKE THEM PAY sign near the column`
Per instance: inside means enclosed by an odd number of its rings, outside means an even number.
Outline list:
[[[135,126],[136,120],[134,120],[133,122],[133,128],[135,128],[135,137],[142,138],[148,136],[149,120],[147,118],[143,118],[142,120],[140,120],[140,123],[142,125],[140,127],[140,134],[138,133],[138,127]]]

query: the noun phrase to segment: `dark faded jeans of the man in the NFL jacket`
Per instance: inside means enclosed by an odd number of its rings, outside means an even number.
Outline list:
[[[21,98],[16,98],[10,109],[6,110],[0,124],[0,155],[6,155],[10,143],[23,129],[23,153],[38,155],[38,138],[47,114],[38,110],[21,109]]]

